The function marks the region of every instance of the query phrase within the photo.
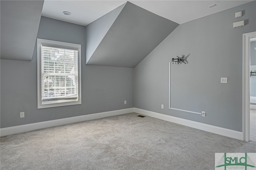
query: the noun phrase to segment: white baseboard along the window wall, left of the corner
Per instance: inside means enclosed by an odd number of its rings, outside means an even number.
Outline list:
[[[100,119],[100,118],[104,118],[104,117],[123,115],[126,113],[132,113],[132,112],[134,112],[134,108],[121,109],[121,110],[116,110],[116,111],[108,111],[108,112],[102,112],[102,113],[94,113],[94,114],[90,114],[90,115],[82,115],[82,116],[76,116],[76,117],[68,117],[68,118],[56,119],[56,120],[52,120],[52,121],[30,123],[30,124],[19,125],[19,126],[14,126],[14,127],[0,128],[0,136],[6,136],[6,135],[21,133],[21,132],[28,132],[31,130],[36,130],[36,129],[41,129],[41,128],[67,125],[70,123],[89,121],[89,120],[93,120],[93,119]]]

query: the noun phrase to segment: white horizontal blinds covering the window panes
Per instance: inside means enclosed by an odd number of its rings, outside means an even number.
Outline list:
[[[42,101],[77,100],[78,50],[42,45],[41,59]]]

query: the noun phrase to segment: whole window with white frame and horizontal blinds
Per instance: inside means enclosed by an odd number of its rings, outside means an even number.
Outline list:
[[[38,109],[81,104],[81,45],[37,39]]]

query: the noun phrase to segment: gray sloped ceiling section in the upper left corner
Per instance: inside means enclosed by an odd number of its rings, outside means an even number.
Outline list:
[[[1,0],[1,59],[31,61],[43,0]]]

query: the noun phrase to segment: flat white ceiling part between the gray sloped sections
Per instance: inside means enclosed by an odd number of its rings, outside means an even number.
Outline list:
[[[168,20],[183,24],[250,1],[252,0],[131,0],[129,2]],[[45,0],[42,16],[86,26],[125,2],[125,0]],[[212,4],[217,6],[208,8]],[[72,15],[62,14],[64,11],[71,12]]]

